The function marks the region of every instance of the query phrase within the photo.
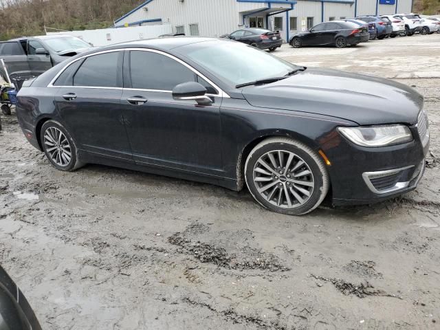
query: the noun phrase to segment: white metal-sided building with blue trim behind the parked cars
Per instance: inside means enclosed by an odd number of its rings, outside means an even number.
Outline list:
[[[278,30],[285,41],[323,21],[411,12],[412,0],[147,0],[115,21],[115,28],[171,25],[190,36],[228,34],[243,27]]]

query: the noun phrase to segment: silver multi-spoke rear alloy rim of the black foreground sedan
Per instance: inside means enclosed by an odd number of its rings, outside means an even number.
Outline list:
[[[69,140],[56,127],[49,127],[44,133],[44,144],[52,162],[58,166],[67,166],[72,160],[72,148]]]

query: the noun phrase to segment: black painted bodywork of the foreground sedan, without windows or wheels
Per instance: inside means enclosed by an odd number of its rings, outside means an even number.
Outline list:
[[[190,61],[184,52],[179,52],[180,47],[197,48],[203,43],[225,43],[227,47],[229,42],[179,37],[137,41],[101,50],[144,47],[186,61],[225,92],[223,97],[214,96],[210,105],[173,100],[169,91],[122,88],[118,89],[121,93],[120,103],[113,100],[117,96],[111,96],[112,101],[105,101],[105,107],[97,111],[107,111],[109,119],[104,118],[107,124],[98,124],[94,120],[83,123],[89,117],[98,118],[98,115],[90,112],[91,109],[98,109],[98,103],[96,107],[78,112],[74,108],[67,111],[67,106],[60,111],[60,105],[54,102],[54,98],[63,96],[64,91],[47,87],[61,69],[55,67],[19,91],[19,123],[29,142],[37,148],[39,125],[42,120],[51,118],[72,132],[83,162],[192,179],[233,190],[243,188],[243,166],[253,146],[265,137],[292,137],[307,144],[316,153],[325,151],[329,157],[331,166],[327,170],[333,187],[333,203],[371,203],[384,198],[369,190],[362,181],[362,171],[421,164],[427,150],[417,140],[415,123],[423,107],[423,98],[410,87],[373,76],[307,68],[275,83],[237,89]],[[87,54],[76,56],[68,63]],[[122,70],[122,67],[117,69]],[[91,93],[84,91],[83,94],[80,88],[76,88],[75,92],[78,98],[79,94],[83,97]],[[128,104],[127,99],[133,96],[142,96],[147,102],[145,105]],[[71,117],[66,117],[67,112]],[[71,131],[72,122],[78,126],[84,124],[86,129]],[[414,140],[398,146],[364,148],[349,142],[338,132],[339,126],[389,123],[410,126]],[[93,129],[96,132],[88,132]],[[78,136],[78,133],[83,136]],[[127,140],[130,144],[135,142],[135,146],[130,147],[128,157],[89,148],[91,144],[87,137],[98,143],[106,135],[118,135],[125,149]],[[112,141],[113,136],[108,138]],[[102,146],[98,148],[102,149]],[[347,161],[356,164],[347,170]],[[349,177],[354,179],[350,182]],[[351,184],[354,181],[356,186]],[[407,190],[412,188],[410,186]],[[400,193],[394,192],[387,197]]]

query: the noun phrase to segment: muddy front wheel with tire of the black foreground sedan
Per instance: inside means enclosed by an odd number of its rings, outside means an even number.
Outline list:
[[[279,166],[282,164],[287,168]],[[278,171],[284,174],[279,175]],[[294,179],[301,173],[305,174]],[[245,180],[254,199],[264,208],[289,215],[306,214],[317,208],[330,185],[322,159],[309,146],[287,137],[270,137],[252,149],[245,163]],[[269,187],[262,190],[265,186]]]

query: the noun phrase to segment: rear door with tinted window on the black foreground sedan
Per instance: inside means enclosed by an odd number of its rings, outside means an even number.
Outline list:
[[[131,161],[120,107],[123,55],[108,52],[70,65],[54,83],[55,102],[79,149]]]

